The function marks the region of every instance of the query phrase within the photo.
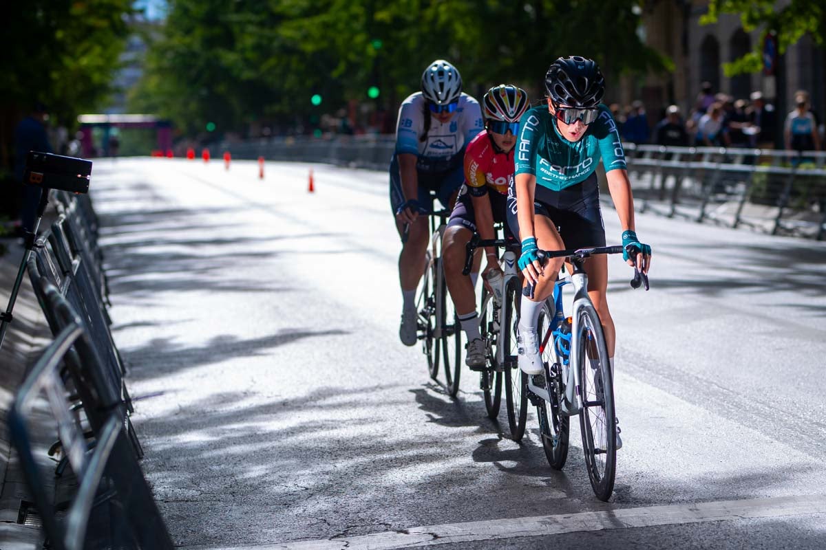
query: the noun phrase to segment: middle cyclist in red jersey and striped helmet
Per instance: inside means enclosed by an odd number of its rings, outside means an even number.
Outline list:
[[[474,232],[483,239],[495,238],[495,222],[505,223],[505,236],[512,236],[506,223],[508,186],[514,176],[515,136],[520,118],[529,107],[528,94],[519,87],[501,84],[487,91],[482,106],[487,119],[485,129],[465,151],[465,185],[459,191],[442,241],[444,276],[462,330],[468,336],[465,364],[471,369],[484,366],[485,344],[479,333],[475,281],[462,275],[466,245]],[[500,270],[496,247],[487,247],[485,256],[483,277],[489,270]]]

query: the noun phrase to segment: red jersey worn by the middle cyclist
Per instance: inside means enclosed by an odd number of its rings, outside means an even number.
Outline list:
[[[485,186],[491,186],[502,195],[508,194],[508,182],[515,170],[514,149],[509,153],[497,153],[487,130],[479,132],[468,143],[464,169],[465,182],[472,195],[482,195]]]

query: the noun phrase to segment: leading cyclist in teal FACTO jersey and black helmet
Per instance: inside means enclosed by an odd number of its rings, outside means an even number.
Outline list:
[[[645,273],[651,263],[651,247],[639,242],[634,232],[634,199],[625,155],[614,117],[601,104],[605,79],[600,68],[591,59],[559,58],[548,69],[545,87],[547,105],[529,110],[520,122],[515,178],[509,193],[508,222],[522,241],[519,266],[525,285],[534,285],[533,296],[523,297],[520,304],[519,365],[527,374],[543,372],[536,327],[563,263],[561,258],[553,259],[543,266],[537,250],[605,246],[595,172],[600,159],[623,228],[623,246],[630,246],[631,253],[624,252],[624,259],[630,266],[636,261]],[[585,269],[613,373],[615,329],[605,301],[607,256],[589,258]],[[617,442],[619,448],[619,435]]]

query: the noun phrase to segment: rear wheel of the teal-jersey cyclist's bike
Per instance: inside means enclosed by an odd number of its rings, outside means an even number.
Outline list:
[[[542,313],[539,314],[539,326],[537,327],[540,338],[544,336],[549,323],[552,321],[551,311],[545,305],[542,308]],[[548,464],[555,470],[561,470],[567,461],[571,419],[569,416],[563,415],[559,407],[559,396],[565,388],[562,377],[563,358],[556,353],[553,336],[542,350],[542,360],[548,364],[548,372],[551,376],[550,380],[545,381],[545,387],[548,389],[548,397],[551,398],[551,401],[546,402],[541,397],[537,399],[536,415],[539,417],[539,435],[542,439],[542,449],[545,451]]]

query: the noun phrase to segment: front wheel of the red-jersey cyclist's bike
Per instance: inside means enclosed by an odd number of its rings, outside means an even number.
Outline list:
[[[502,315],[502,322],[505,323],[505,338],[502,345],[505,346],[505,364],[502,365],[503,376],[505,377],[505,395],[508,411],[508,427],[510,428],[510,439],[521,441],[525,435],[525,423],[528,420],[528,377],[519,368],[518,351],[516,344],[516,323],[520,303],[520,281],[513,277],[508,281],[505,289],[505,303],[502,308],[505,310]]]

